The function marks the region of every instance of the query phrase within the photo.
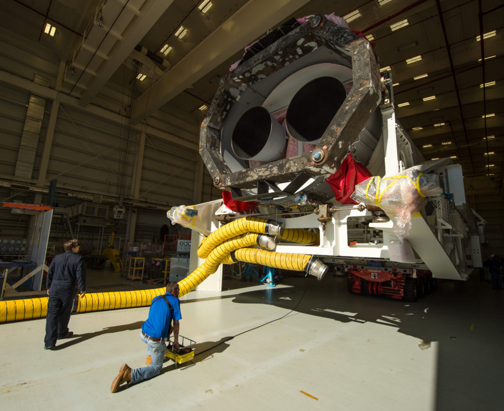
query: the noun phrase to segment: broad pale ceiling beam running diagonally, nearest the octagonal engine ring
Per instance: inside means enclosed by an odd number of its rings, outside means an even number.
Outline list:
[[[144,120],[144,115],[170,101],[306,3],[308,0],[250,0],[137,99],[133,122]]]

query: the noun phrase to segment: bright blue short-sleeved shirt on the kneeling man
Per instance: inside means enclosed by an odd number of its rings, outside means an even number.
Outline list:
[[[171,320],[181,320],[180,315],[180,300],[173,297],[171,294],[165,294],[173,309],[173,317],[170,313],[168,304],[163,299],[163,296],[156,297],[152,300],[151,308],[149,309],[149,317],[142,325],[142,331],[152,338],[167,338]]]

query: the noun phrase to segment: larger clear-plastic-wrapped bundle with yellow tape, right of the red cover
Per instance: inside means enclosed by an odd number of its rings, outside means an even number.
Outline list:
[[[442,194],[438,174],[407,169],[392,177],[371,177],[355,186],[352,199],[384,210],[394,222],[396,236],[408,236],[411,215],[425,205],[426,197]]]

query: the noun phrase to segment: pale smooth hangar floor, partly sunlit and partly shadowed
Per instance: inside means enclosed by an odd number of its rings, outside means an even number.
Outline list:
[[[88,292],[152,287],[88,273]],[[119,367],[144,365],[148,307],[73,315],[56,350],[45,319],[0,324],[2,409],[502,409],[504,291],[479,278],[415,304],[350,295],[333,276],[224,288],[181,298],[194,364],[115,394]]]

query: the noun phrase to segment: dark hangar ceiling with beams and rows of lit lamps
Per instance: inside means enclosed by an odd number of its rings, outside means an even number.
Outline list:
[[[128,86],[138,127],[172,115],[172,107],[201,120],[243,47],[289,17],[351,15],[350,28],[376,42],[380,65],[396,84],[397,118],[425,158],[452,157],[466,177],[501,179],[502,6],[499,0],[5,0],[0,22],[40,44],[37,64],[62,62],[50,87],[82,107],[124,114],[125,78],[138,76],[136,87]],[[197,135],[186,139],[197,143]]]

